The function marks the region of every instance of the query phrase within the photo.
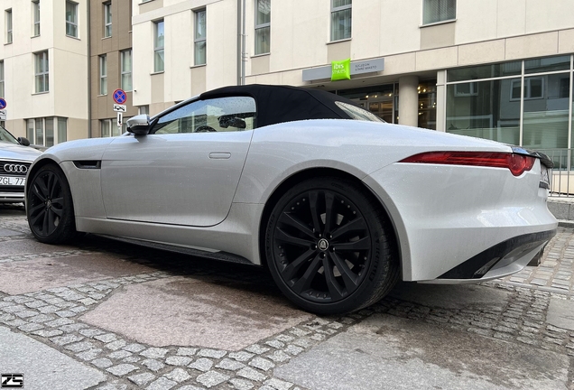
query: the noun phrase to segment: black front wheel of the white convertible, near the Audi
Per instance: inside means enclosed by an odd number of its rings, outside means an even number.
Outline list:
[[[55,164],[34,172],[26,197],[26,217],[32,234],[46,244],[61,244],[77,237],[69,183]]]

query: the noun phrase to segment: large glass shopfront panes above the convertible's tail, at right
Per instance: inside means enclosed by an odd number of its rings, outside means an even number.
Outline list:
[[[572,147],[572,58],[447,71],[446,131],[532,149]]]

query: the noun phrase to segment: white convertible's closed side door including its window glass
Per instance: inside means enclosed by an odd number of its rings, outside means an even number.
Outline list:
[[[102,160],[107,218],[207,227],[227,217],[255,124],[255,99],[196,100]]]

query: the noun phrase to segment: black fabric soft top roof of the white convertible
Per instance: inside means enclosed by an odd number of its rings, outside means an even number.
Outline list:
[[[319,89],[264,84],[213,89],[202,93],[199,98],[229,96],[255,98],[257,127],[305,119],[351,119],[335,102],[356,106],[352,100]]]

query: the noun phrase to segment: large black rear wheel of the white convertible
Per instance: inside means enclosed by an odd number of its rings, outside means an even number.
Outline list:
[[[399,277],[393,229],[352,181],[301,181],[274,205],[265,255],[275,283],[306,311],[331,315],[379,301]]]

